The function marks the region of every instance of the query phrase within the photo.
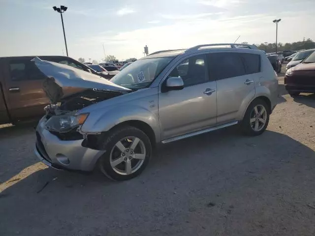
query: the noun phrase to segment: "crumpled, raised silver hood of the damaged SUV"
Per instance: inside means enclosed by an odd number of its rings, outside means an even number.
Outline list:
[[[38,69],[48,78],[43,82],[43,89],[52,103],[63,98],[63,88],[102,89],[111,91],[130,91],[90,72],[73,68],[57,62],[32,59]]]

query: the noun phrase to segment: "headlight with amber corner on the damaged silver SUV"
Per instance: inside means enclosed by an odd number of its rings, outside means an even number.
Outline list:
[[[46,127],[49,130],[58,131],[60,133],[68,132],[69,130],[83,124],[88,116],[88,113],[79,115],[53,116],[48,119]]]

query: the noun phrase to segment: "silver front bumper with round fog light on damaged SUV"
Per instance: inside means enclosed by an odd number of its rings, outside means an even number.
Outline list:
[[[92,171],[105,150],[82,147],[82,140],[63,141],[45,129],[45,119],[36,127],[34,152],[41,162],[55,169]]]

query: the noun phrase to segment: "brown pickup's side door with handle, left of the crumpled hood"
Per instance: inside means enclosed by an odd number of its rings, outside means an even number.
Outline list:
[[[12,58],[5,64],[3,89],[14,120],[42,116],[43,108],[49,104],[42,89],[42,81],[46,77],[31,59]]]

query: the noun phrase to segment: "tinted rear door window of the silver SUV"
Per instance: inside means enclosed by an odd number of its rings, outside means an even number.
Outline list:
[[[245,65],[239,53],[210,53],[208,66],[211,80],[222,80],[246,74]]]

